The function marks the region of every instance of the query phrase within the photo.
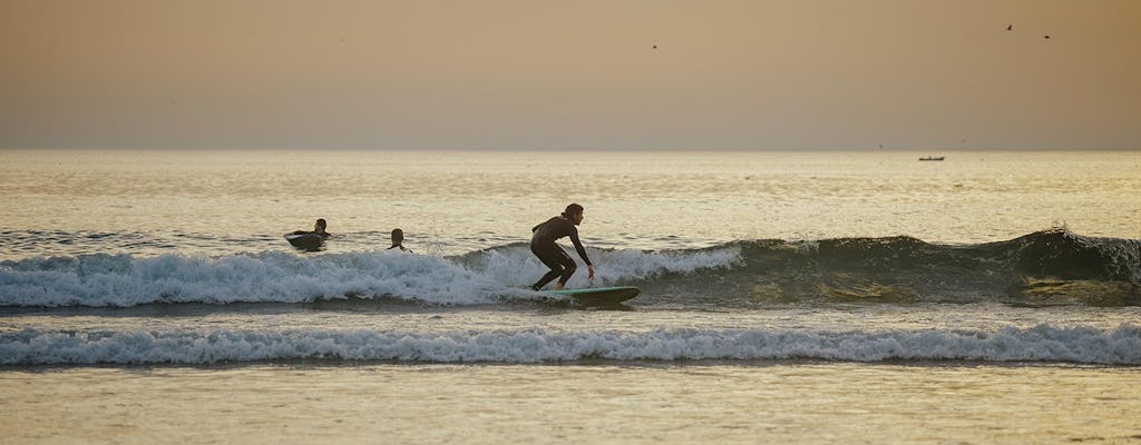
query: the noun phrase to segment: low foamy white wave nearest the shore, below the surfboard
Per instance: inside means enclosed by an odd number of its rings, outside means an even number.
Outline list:
[[[1141,327],[1099,330],[1038,324],[998,331],[658,329],[462,332],[49,331],[0,333],[0,364],[180,363],[266,360],[574,362],[580,360],[985,361],[1141,364]]]

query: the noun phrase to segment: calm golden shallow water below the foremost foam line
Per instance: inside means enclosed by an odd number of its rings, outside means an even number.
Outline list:
[[[0,374],[15,443],[1133,443],[1135,368],[252,363]]]

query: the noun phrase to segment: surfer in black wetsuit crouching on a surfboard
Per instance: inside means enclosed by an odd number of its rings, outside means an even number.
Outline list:
[[[570,279],[570,275],[578,269],[566,250],[563,250],[559,245],[555,244],[555,240],[563,237],[570,237],[570,242],[574,244],[578,256],[586,263],[589,278],[594,278],[594,264],[586,256],[586,249],[582,247],[582,241],[578,240],[578,229],[575,228],[575,225],[582,224],[582,206],[572,204],[567,206],[561,215],[547,220],[547,222],[531,229],[531,253],[535,254],[544,265],[551,269],[550,272],[547,272],[547,274],[531,286],[533,290],[542,289],[543,286],[547,286],[547,283],[556,278],[559,281],[555,285],[555,288],[563,289],[567,280]]]

